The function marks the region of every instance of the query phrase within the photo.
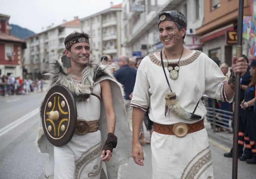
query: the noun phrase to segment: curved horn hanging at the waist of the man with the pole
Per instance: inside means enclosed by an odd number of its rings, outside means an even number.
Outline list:
[[[165,93],[165,101],[166,105],[170,109],[171,112],[176,114],[182,119],[201,119],[201,116],[198,116],[197,114],[190,113],[186,110],[184,110],[176,101],[176,93],[175,92],[168,92]]]

